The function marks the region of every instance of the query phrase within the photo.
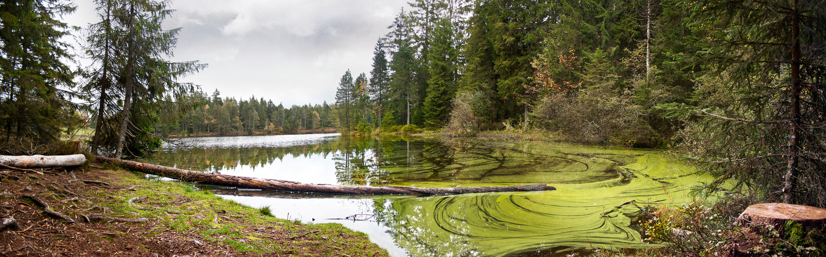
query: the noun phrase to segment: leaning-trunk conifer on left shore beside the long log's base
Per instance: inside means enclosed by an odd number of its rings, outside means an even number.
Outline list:
[[[98,116],[107,118],[110,113],[112,118],[99,121],[116,120],[118,125],[100,125],[102,129],[95,131],[95,146],[113,150],[118,158],[123,156],[124,148],[130,156],[145,155],[160,145],[159,139],[149,133],[160,114],[156,103],[164,96],[179,98],[196,91],[197,86],[177,80],[206,68],[206,64],[164,60],[172,56],[179,30],[161,27],[173,12],[166,8],[168,2],[112,0],[97,4],[102,21],[91,26],[87,52],[101,64],[101,70],[89,74],[88,83],[93,85],[87,88],[101,94],[97,96]],[[114,113],[107,103],[121,93],[123,105]]]

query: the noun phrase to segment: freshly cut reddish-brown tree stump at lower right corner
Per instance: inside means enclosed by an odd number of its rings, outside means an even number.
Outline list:
[[[826,209],[788,203],[759,203],[746,208],[734,225],[771,225],[782,235],[789,221],[800,223],[806,230],[822,230],[826,225]]]

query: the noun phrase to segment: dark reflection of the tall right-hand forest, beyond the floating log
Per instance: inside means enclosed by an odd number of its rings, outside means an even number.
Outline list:
[[[537,183],[553,172],[577,173],[567,180],[582,183],[616,178],[615,161],[593,160],[576,153],[539,152],[485,143],[442,143],[377,138],[352,138],[339,152],[339,183],[402,185],[427,183]],[[344,139],[342,140],[344,141]],[[596,166],[592,165],[596,163]],[[585,173],[589,171],[590,173]],[[534,172],[550,172],[545,175]],[[557,175],[558,176],[558,175]],[[563,180],[567,181],[566,178]],[[550,181],[550,180],[548,180]],[[559,182],[561,180],[553,180]]]

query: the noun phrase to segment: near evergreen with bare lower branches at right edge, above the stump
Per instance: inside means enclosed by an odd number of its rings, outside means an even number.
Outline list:
[[[704,133],[701,157],[720,183],[762,191],[768,199],[826,206],[826,2],[700,1],[690,6],[703,33],[697,63],[700,108],[664,105],[695,114]],[[724,100],[721,100],[724,99]]]

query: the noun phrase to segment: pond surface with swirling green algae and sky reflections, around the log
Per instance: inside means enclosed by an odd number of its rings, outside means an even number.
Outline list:
[[[644,248],[648,204],[681,204],[710,180],[661,152],[551,143],[435,142],[338,134],[183,138],[159,165],[336,185],[453,187],[547,183],[546,192],[425,198],[218,191],[301,222],[363,231],[393,256],[512,256]],[[622,204],[634,200],[634,204]],[[620,206],[617,208],[617,206]]]

